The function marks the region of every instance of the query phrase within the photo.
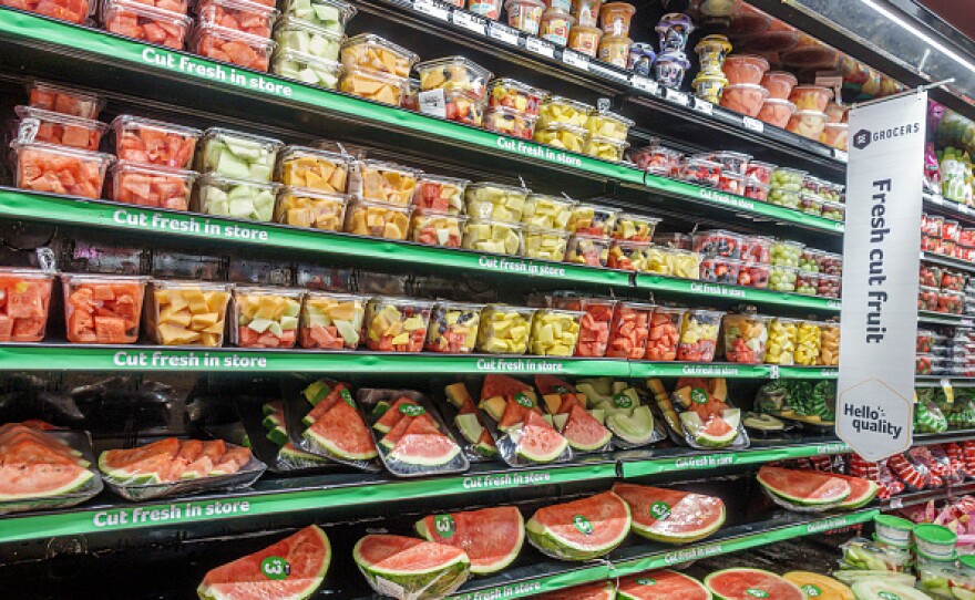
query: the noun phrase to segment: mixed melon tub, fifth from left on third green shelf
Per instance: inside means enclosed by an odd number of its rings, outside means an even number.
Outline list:
[[[301,348],[355,350],[362,340],[368,296],[308,291],[301,304]]]

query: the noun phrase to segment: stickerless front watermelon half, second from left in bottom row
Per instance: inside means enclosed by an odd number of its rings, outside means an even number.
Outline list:
[[[400,600],[451,594],[471,568],[460,548],[404,536],[366,536],[352,549],[352,559],[373,590]]]

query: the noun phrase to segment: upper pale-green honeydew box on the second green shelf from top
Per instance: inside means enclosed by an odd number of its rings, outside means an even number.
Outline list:
[[[283,142],[271,137],[212,127],[199,142],[196,170],[268,183],[283,146]]]

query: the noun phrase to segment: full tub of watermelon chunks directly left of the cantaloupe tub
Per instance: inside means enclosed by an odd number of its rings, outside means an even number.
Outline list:
[[[68,341],[83,344],[135,343],[148,279],[117,275],[62,275]]]

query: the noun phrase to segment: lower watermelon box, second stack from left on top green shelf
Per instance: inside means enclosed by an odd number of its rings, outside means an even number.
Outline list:
[[[135,0],[104,0],[102,27],[106,31],[153,44],[183,50],[193,20]]]

